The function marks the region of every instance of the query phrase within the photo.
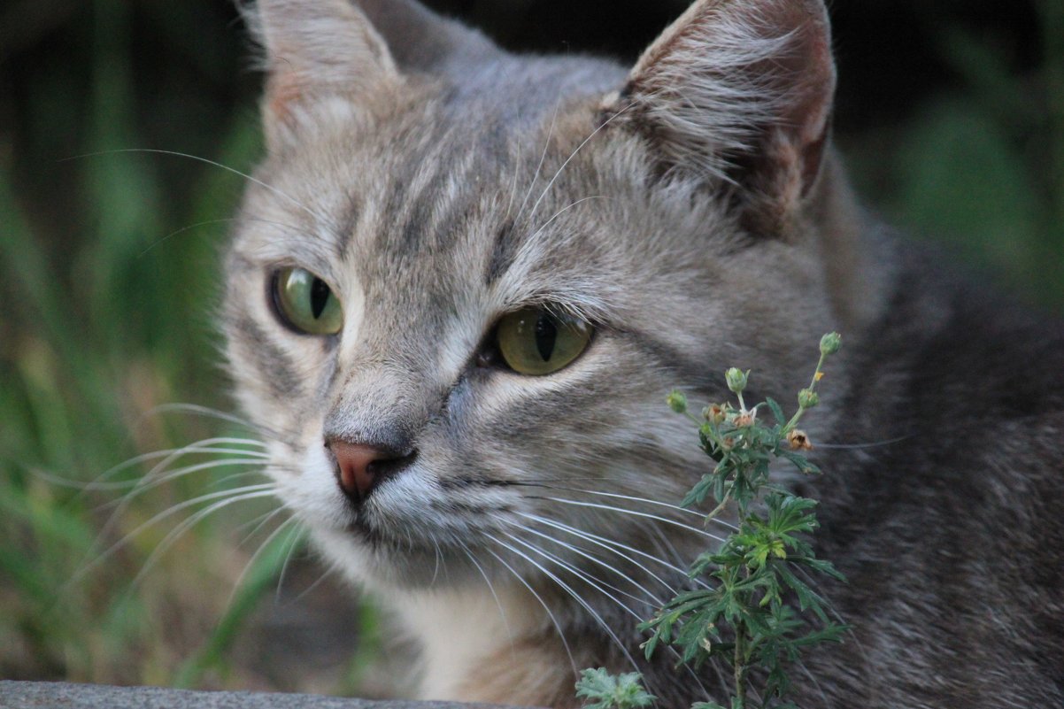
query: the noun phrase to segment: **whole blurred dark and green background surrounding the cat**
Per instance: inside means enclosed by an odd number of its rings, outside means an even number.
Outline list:
[[[276,504],[242,499],[257,448],[207,411],[231,411],[216,257],[261,154],[234,4],[0,3],[0,678],[404,682],[373,609]],[[686,3],[430,4],[510,48],[630,62]],[[1064,0],[832,15],[837,142],[867,203],[1064,311]]]

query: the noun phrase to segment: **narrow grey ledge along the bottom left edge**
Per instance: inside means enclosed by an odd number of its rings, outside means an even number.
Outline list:
[[[0,709],[501,709],[452,702],[370,702],[314,694],[197,692],[0,680]]]

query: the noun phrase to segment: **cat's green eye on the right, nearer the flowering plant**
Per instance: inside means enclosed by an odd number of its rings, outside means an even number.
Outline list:
[[[523,375],[558,372],[577,359],[592,340],[583,320],[526,308],[499,321],[497,342],[511,369]]]

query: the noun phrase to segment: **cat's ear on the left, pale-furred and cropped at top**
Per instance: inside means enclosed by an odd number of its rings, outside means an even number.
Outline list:
[[[257,0],[249,19],[266,53],[271,151],[298,141],[318,116],[401,81],[384,39],[350,0]]]

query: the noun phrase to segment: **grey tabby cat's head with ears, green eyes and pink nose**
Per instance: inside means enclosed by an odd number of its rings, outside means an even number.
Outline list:
[[[385,587],[703,545],[655,520],[706,465],[666,393],[797,391],[837,325],[820,0],[697,2],[631,70],[400,0],[255,22],[225,324],[296,516]]]

